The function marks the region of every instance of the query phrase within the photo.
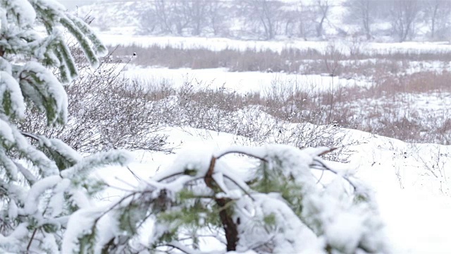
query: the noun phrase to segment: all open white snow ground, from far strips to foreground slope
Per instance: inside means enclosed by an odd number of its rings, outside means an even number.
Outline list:
[[[269,49],[276,52],[285,48],[317,49],[323,52],[328,42],[259,42],[236,41],[223,38],[187,38],[187,37],[125,37],[121,35],[101,34],[109,45],[131,45],[142,47],[151,45],[179,47],[182,49],[204,48],[221,49]],[[341,43],[341,42],[340,42]],[[342,43],[343,47],[347,47]],[[367,43],[362,45],[366,53],[435,53],[451,52],[451,45],[440,42],[404,42],[404,43]],[[438,69],[441,62],[411,62],[409,73]],[[449,66],[447,66],[448,68]],[[185,81],[194,85],[211,88],[224,87],[227,90],[240,92],[261,92],[275,83],[298,86],[304,90],[333,90],[338,87],[358,85],[368,87],[370,82],[326,75],[294,75],[287,73],[229,72],[226,68],[192,70],[168,68],[141,68],[129,66],[123,73],[125,77],[160,82],[161,80],[182,87]],[[447,118],[447,108],[451,104],[447,93],[406,94],[409,107],[416,107],[424,114],[437,114]],[[393,98],[389,98],[393,99]],[[371,111],[378,101],[364,99],[364,102],[352,102],[357,105],[366,104],[362,111]],[[405,107],[404,100],[393,102],[397,107]],[[421,115],[424,115],[421,114]],[[451,253],[451,147],[435,144],[412,144],[400,140],[385,138],[371,133],[346,130],[347,143],[358,141],[359,145],[350,147],[353,150],[346,165],[356,171],[356,176],[371,186],[376,193],[381,217],[385,221],[387,234],[394,246],[394,253]],[[199,147],[221,149],[232,145],[237,137],[228,133],[199,130],[193,128],[166,128],[169,142],[178,149],[197,150]],[[130,169],[142,178],[153,176],[156,171],[163,171],[176,155],[160,152],[135,152],[137,162]],[[234,157],[233,163],[242,165],[243,159]],[[128,169],[118,167],[101,169],[97,172],[113,186],[136,185],[137,180]],[[104,200],[114,199],[118,191],[105,193]],[[109,197],[110,196],[110,197]],[[108,198],[109,197],[109,198]]]

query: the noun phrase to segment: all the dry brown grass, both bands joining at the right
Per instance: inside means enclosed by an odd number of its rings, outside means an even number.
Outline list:
[[[352,54],[344,54],[343,49],[330,44],[326,52],[321,54],[315,50],[299,49],[284,49],[280,53],[255,49],[213,52],[154,45],[148,48],[118,47],[113,55],[120,58],[136,52],[135,63],[144,66],[326,73],[342,78],[365,77],[372,82],[369,87],[339,87],[333,91],[315,92],[300,89],[300,86],[310,84],[296,84],[299,87],[293,87],[292,84],[275,80],[270,89],[245,96],[221,89],[193,89],[202,87],[202,84],[186,83],[182,90],[175,90],[167,83],[148,84],[151,90],[149,99],[152,101],[169,96],[178,97],[178,109],[173,109],[175,111],[171,114],[183,111],[183,118],[170,118],[165,121],[167,123],[226,131],[246,137],[257,138],[257,135],[261,135],[267,139],[270,133],[261,133],[259,129],[262,126],[252,126],[258,120],[252,119],[256,117],[254,113],[247,114],[249,124],[242,124],[242,119],[236,119],[237,111],[252,108],[288,123],[342,126],[409,142],[449,144],[451,120],[447,119],[447,114],[443,114],[441,119],[437,119],[433,112],[421,114],[414,107],[414,102],[403,95],[431,92],[451,94],[451,73],[446,71],[451,54],[385,52],[369,55],[357,46],[350,47]],[[428,71],[422,68],[428,61],[442,61],[443,70]],[[424,71],[410,73],[414,62]],[[375,101],[379,102],[376,106],[371,104]]]

